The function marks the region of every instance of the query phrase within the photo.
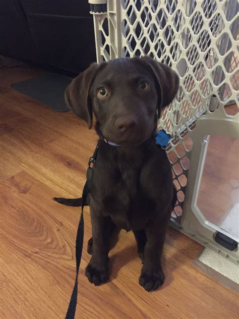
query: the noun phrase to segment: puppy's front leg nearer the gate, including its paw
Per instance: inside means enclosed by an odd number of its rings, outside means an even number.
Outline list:
[[[147,291],[156,290],[164,282],[161,255],[170,214],[158,223],[149,223],[146,231],[147,242],[144,249],[144,264],[139,284]]]

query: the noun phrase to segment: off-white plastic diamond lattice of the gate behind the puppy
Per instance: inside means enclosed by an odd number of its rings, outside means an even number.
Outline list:
[[[181,79],[159,127],[172,135],[167,154],[180,223],[190,165],[190,131],[202,115],[234,104],[238,111],[238,3],[236,0],[108,0],[95,14],[97,59],[148,55],[172,67]]]

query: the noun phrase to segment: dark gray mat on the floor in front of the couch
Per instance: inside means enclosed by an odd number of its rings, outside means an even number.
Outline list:
[[[72,78],[57,73],[48,73],[22,82],[13,83],[12,88],[45,104],[57,112],[69,111],[64,93]]]

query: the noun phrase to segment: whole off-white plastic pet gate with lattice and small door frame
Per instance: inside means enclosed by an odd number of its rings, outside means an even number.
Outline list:
[[[237,0],[89,3],[98,62],[148,55],[180,75],[180,89],[159,121],[172,136],[167,153],[178,198],[172,224],[238,264],[238,232],[205,218],[197,202],[210,136],[238,138],[237,111],[230,114],[238,108]]]

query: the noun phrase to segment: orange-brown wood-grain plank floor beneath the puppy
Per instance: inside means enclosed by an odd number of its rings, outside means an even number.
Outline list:
[[[81,195],[97,138],[70,112],[10,87],[41,73],[0,70],[1,319],[64,318],[75,281],[80,209],[51,198]],[[192,266],[202,246],[176,230],[166,239],[165,283],[153,293],[138,284],[141,263],[124,231],[110,252],[111,281],[91,285],[84,275],[90,236],[86,208],[76,318],[238,318],[238,296]]]

